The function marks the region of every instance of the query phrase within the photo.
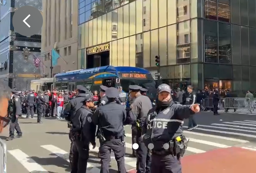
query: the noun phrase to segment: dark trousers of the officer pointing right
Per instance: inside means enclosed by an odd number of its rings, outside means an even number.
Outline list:
[[[154,155],[152,154],[152,173],[181,173],[180,160],[172,155]]]

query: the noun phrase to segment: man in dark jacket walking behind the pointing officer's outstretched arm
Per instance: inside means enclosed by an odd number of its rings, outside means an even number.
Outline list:
[[[187,87],[187,95],[186,95],[186,105],[193,105],[196,103],[196,97],[197,97],[197,93],[195,91],[193,91],[193,87],[191,85],[188,85]],[[198,125],[195,122],[195,119],[193,116],[189,117],[188,119],[188,131],[191,131],[195,128],[197,128]]]

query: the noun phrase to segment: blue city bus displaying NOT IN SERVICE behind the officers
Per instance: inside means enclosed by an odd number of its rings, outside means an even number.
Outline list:
[[[100,85],[123,87],[129,93],[129,85],[146,88],[150,99],[156,98],[156,87],[152,74],[144,69],[130,66],[101,66],[96,68],[74,70],[54,76],[53,87],[74,91],[77,85],[84,85],[90,91],[99,91]]]

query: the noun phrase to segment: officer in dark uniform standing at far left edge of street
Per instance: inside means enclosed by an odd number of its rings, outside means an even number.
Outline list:
[[[15,138],[21,138],[22,132],[20,130],[20,126],[18,125],[18,117],[21,115],[21,107],[20,107],[20,98],[14,94],[15,91],[11,93],[10,99],[10,113],[11,113],[11,121],[10,121],[10,133],[9,137],[6,141],[11,141],[14,139],[14,129],[17,131],[17,135]]]

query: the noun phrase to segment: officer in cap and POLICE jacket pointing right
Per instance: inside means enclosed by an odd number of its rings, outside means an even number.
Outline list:
[[[183,120],[199,111],[198,104],[174,104],[167,84],[158,87],[158,104],[149,111],[142,132],[143,142],[152,152],[152,173],[181,173],[180,157],[187,146]]]

